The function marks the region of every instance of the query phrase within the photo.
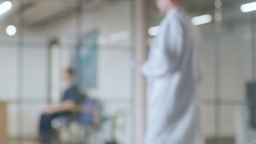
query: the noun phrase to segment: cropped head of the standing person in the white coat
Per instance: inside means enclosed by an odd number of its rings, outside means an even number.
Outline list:
[[[183,0],[155,0],[161,14],[166,14],[169,10],[180,7],[183,4]]]

